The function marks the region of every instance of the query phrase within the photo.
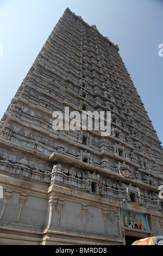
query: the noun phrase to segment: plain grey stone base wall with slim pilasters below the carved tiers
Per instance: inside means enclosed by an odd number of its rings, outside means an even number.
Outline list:
[[[160,211],[57,183],[0,175],[1,245],[125,245],[125,236],[163,235]],[[122,209],[146,213],[148,230],[124,227]]]

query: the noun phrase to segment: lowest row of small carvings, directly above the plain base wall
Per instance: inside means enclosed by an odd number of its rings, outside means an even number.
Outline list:
[[[121,181],[103,178],[99,174],[90,173],[88,171],[78,171],[72,168],[66,168],[61,164],[55,164],[52,169],[51,182],[65,184],[77,187],[87,192],[95,192],[100,195],[114,197],[119,200],[131,201],[130,194],[135,194],[135,200],[146,206],[160,209],[158,194],[140,190],[140,188],[132,184],[125,184]]]

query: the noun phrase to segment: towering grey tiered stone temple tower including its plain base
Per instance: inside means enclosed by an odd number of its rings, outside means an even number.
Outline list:
[[[118,50],[68,8],[54,27],[1,120],[2,245],[163,235],[162,147]],[[53,130],[65,107],[111,111],[110,136]]]

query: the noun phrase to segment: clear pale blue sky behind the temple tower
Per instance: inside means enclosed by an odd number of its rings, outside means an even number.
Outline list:
[[[162,142],[163,0],[0,0],[0,118],[67,7],[120,47]]]

